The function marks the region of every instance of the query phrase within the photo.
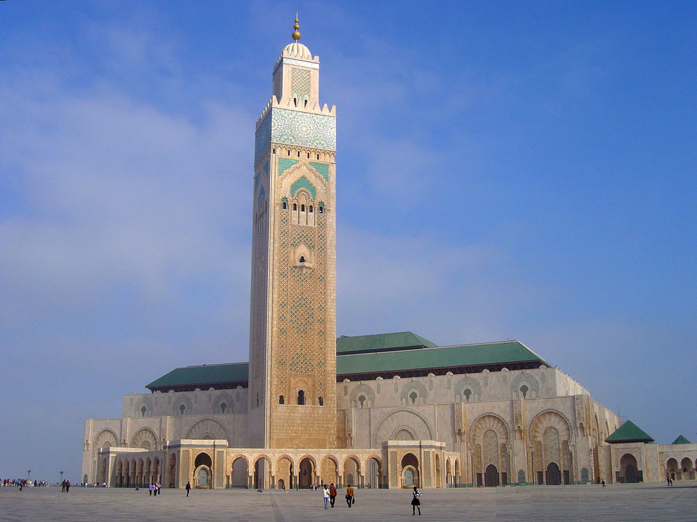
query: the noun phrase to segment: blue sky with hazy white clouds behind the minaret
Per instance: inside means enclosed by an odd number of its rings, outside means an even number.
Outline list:
[[[518,339],[697,441],[697,4],[0,3],[0,475],[247,360],[254,122],[337,105],[337,334]]]

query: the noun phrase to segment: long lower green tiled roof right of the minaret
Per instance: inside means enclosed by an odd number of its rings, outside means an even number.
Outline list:
[[[544,359],[519,341],[487,342],[477,345],[379,351],[369,354],[339,354],[337,375],[390,374],[404,370],[481,367],[530,362],[536,366],[549,366]]]

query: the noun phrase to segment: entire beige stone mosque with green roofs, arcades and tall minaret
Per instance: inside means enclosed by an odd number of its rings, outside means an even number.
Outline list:
[[[336,336],[336,109],[293,42],[256,122],[250,361],[181,367],[121,418],[85,422],[84,482],[296,489],[695,480],[697,444],[657,445],[515,340],[439,347]]]

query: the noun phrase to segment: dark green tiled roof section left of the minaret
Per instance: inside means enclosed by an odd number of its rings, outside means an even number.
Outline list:
[[[209,388],[220,383],[240,383],[247,385],[249,363],[211,364],[176,368],[166,375],[155,379],[146,388],[151,391],[169,389]]]

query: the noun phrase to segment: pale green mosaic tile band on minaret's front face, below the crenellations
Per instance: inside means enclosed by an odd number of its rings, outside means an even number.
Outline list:
[[[277,107],[271,109],[270,116],[272,117],[270,141],[324,150],[336,150],[337,148],[337,119],[334,116],[278,109]],[[263,125],[266,125],[266,120],[256,133],[257,141],[259,141],[259,133]],[[259,155],[261,152],[263,152],[263,148]]]

